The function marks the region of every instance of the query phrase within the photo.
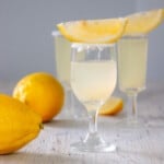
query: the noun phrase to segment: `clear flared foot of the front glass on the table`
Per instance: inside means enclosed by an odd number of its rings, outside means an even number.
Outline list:
[[[116,151],[116,145],[106,143],[98,133],[87,133],[84,141],[73,143],[71,148],[75,151],[93,153]]]

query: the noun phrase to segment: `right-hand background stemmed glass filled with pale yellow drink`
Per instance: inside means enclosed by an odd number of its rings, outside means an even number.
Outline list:
[[[139,125],[137,96],[145,89],[148,36],[124,36],[118,42],[119,89],[128,96],[128,125]]]

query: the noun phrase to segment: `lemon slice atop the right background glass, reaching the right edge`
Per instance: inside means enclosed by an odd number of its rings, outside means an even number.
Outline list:
[[[124,35],[147,34],[164,22],[164,9],[138,12],[127,16],[128,24]]]

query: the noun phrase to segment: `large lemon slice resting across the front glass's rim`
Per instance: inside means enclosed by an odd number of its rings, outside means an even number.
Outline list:
[[[71,42],[107,44],[122,36],[127,22],[127,19],[72,21],[57,24],[57,27]]]

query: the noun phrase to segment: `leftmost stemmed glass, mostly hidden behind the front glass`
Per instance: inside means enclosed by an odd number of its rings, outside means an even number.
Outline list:
[[[72,93],[70,85],[71,43],[66,39],[58,31],[52,32],[52,36],[55,39],[55,63],[57,78],[62,83],[66,95],[62,116],[66,118],[85,117],[85,110],[77,113],[77,106],[80,107],[80,103],[77,101],[74,94]]]

